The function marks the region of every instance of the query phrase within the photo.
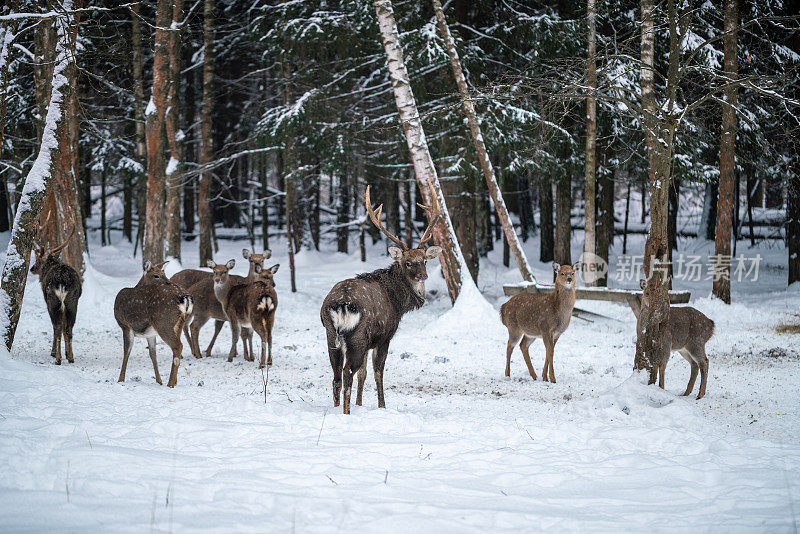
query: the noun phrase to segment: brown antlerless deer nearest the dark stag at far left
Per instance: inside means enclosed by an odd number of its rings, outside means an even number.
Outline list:
[[[135,287],[120,290],[114,301],[114,317],[122,328],[123,356],[119,382],[125,381],[125,369],[131,354],[134,337],[147,339],[150,359],[156,382],[161,384],[156,362],[156,335],[172,349],[172,371],[167,385],[174,387],[178,381],[178,367],[181,363],[181,330],[192,314],[194,301],[191,295],[172,283],[164,274],[167,262],[145,264],[145,272]]]

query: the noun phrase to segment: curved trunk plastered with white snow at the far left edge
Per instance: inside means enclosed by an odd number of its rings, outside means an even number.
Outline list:
[[[6,348],[11,350],[14,335],[19,323],[22,299],[25,295],[25,282],[28,279],[31,248],[34,244],[36,221],[42,210],[47,188],[52,180],[53,168],[58,165],[59,140],[66,135],[69,124],[65,115],[65,94],[67,88],[67,69],[74,56],[69,53],[70,37],[75,35],[77,20],[68,12],[73,9],[72,0],[63,0],[60,8],[65,16],[53,19],[55,25],[55,54],[53,74],[50,82],[50,99],[44,118],[41,143],[36,160],[25,177],[11,236],[6,249],[6,263],[0,281],[0,331]]]

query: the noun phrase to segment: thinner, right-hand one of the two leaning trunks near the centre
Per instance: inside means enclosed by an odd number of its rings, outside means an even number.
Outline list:
[[[593,1],[593,0],[590,0]],[[514,231],[514,225],[511,223],[511,218],[508,215],[503,195],[500,188],[497,186],[497,178],[494,174],[492,161],[489,159],[489,154],[486,150],[486,143],[483,141],[483,133],[481,132],[478,117],[475,113],[475,106],[469,96],[469,89],[467,88],[467,80],[464,77],[464,71],[461,68],[461,59],[458,57],[453,36],[450,33],[450,28],[447,25],[447,20],[444,18],[444,10],[440,0],[433,0],[433,9],[436,12],[436,20],[439,23],[439,32],[444,39],[445,47],[447,48],[447,55],[450,56],[450,66],[453,68],[453,77],[458,86],[458,94],[461,97],[461,105],[464,106],[464,113],[467,116],[467,124],[469,132],[472,136],[472,143],[475,146],[475,152],[478,154],[478,160],[481,163],[483,170],[483,177],[486,180],[486,186],[489,188],[489,195],[492,197],[497,216],[500,219],[500,224],[503,225],[503,233],[506,236],[506,241],[514,255],[517,262],[517,268],[522,275],[523,280],[528,282],[535,282],[536,278],[533,276],[533,270],[528,264],[528,258],[522,250],[522,246],[517,239],[517,234]]]

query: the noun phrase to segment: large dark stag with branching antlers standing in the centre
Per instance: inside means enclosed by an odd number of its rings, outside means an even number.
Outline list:
[[[410,249],[397,236],[381,224],[381,210],[372,209],[367,187],[367,213],[372,223],[386,237],[397,244],[389,247],[394,263],[388,268],[364,273],[339,282],[331,289],[320,310],[320,319],[328,338],[328,356],[333,368],[333,405],[339,406],[344,382],[342,407],[350,413],[350,391],[353,375],[358,373],[356,404],[361,406],[364,380],[367,376],[367,353],[372,353],[372,368],[378,389],[378,407],[385,408],[383,398],[383,368],[389,353],[389,343],[394,337],[403,315],[425,303],[425,265],[441,254],[438,246],[425,247],[432,237],[436,220],[429,212],[428,228],[417,248]],[[424,206],[423,206],[424,207]]]

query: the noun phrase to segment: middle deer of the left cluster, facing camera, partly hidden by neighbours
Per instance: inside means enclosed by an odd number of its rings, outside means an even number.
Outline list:
[[[211,267],[211,276],[204,276],[189,288],[189,294],[194,299],[193,318],[188,328],[191,335],[187,333],[186,339],[195,358],[201,358],[200,354],[200,329],[210,320],[214,319],[214,337],[206,348],[206,357],[211,355],[211,349],[217,340],[222,325],[228,320],[225,310],[222,309],[222,301],[226,298],[231,285],[242,282],[244,278],[230,274],[230,270],[236,265],[236,260],[230,260],[225,264],[217,264],[214,260],[208,260],[207,265]],[[204,272],[204,271],[199,271]]]

